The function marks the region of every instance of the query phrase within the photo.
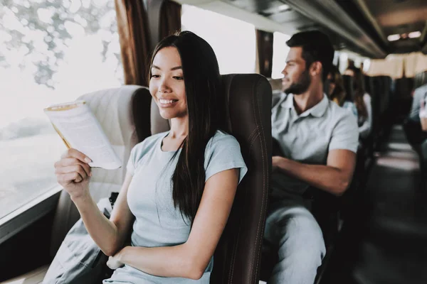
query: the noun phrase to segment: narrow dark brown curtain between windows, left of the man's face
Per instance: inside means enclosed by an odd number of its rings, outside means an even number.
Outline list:
[[[270,78],[273,69],[273,33],[256,30],[257,72]]]

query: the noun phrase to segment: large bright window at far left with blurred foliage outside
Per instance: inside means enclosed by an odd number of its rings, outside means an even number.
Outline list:
[[[65,146],[43,108],[120,86],[114,1],[0,6],[0,219],[56,185]]]

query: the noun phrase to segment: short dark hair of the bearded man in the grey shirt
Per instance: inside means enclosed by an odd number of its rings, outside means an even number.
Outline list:
[[[305,60],[307,69],[313,62],[320,61],[322,63],[322,80],[325,82],[334,60],[334,47],[325,33],[321,31],[295,33],[286,44],[290,48],[302,48],[302,58]]]

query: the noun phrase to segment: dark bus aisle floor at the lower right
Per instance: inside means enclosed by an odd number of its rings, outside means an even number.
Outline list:
[[[400,125],[376,157],[322,284],[427,283],[426,197]]]

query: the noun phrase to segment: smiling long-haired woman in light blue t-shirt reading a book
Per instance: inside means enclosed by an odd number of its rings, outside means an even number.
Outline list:
[[[238,141],[219,124],[220,75],[209,43],[189,31],[169,35],[151,63],[149,91],[171,129],[132,148],[110,219],[93,200],[83,153],[70,149],[62,156],[57,180],[117,268],[103,283],[209,283],[214,251],[248,169]]]

